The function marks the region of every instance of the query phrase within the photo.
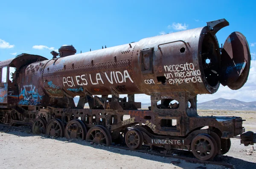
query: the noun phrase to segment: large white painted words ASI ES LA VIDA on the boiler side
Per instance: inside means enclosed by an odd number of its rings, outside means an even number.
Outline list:
[[[104,78],[105,77],[105,78]],[[107,80],[104,80],[107,79]],[[131,76],[128,70],[124,70],[123,72],[119,71],[112,71],[112,72],[104,72],[96,73],[96,74],[81,74],[77,75],[74,78],[72,76],[63,77],[63,86],[73,87],[73,86],[87,86],[88,83],[92,85],[99,85],[99,84],[120,84],[126,83],[130,81],[134,83],[131,79]]]

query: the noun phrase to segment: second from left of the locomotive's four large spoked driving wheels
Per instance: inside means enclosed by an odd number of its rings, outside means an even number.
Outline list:
[[[60,119],[52,119],[46,127],[46,134],[54,137],[64,137],[65,128]]]

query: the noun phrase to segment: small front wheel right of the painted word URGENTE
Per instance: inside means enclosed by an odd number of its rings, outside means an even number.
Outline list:
[[[200,160],[209,160],[217,154],[217,143],[207,134],[199,134],[191,142],[193,155]]]

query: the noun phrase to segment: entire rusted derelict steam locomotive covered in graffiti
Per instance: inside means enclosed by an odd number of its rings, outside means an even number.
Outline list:
[[[20,54],[1,61],[0,120],[107,146],[186,149],[202,160],[227,153],[237,135],[253,145],[256,134],[245,132],[241,117],[197,114],[198,94],[213,94],[220,84],[237,90],[247,81],[251,57],[244,35],[233,32],[223,47],[215,36],[228,25],[221,19],[81,54],[61,46],[51,60]],[[150,95],[151,106],[141,109],[134,94]]]

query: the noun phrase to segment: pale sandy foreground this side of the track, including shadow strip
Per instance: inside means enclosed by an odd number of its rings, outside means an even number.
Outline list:
[[[0,133],[1,169],[190,169],[203,164],[172,164],[163,158],[81,140],[51,139],[23,132]],[[206,165],[207,169],[223,169]]]

